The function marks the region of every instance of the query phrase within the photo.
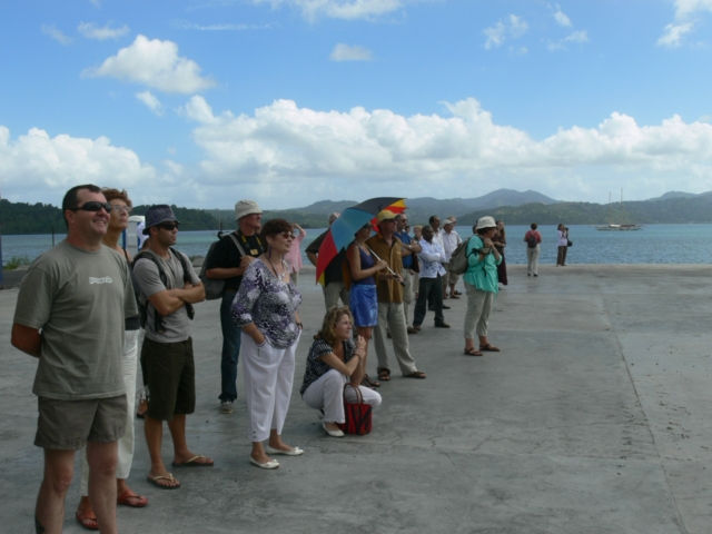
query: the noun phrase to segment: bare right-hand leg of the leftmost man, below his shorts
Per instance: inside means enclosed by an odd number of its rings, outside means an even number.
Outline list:
[[[89,462],[89,501],[97,514],[102,534],[116,534],[117,442],[87,443]]]

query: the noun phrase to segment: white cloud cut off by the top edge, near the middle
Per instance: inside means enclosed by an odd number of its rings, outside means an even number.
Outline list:
[[[269,4],[273,9],[283,6],[301,12],[307,20],[319,17],[329,19],[372,19],[404,8],[415,0],[253,0],[255,4]]]

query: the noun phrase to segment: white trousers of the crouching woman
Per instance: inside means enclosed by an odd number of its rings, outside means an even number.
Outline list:
[[[315,409],[324,409],[325,423],[344,423],[344,385],[348,377],[336,369],[329,369],[309,384],[301,398],[307,406]],[[358,386],[365,404],[380,406],[380,395],[369,387]],[[353,387],[346,388],[346,398],[349,403],[356,402],[356,392]]]

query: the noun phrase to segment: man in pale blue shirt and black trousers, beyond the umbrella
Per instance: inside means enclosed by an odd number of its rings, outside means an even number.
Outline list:
[[[445,251],[435,241],[433,228],[423,227],[423,239],[421,239],[421,280],[418,286],[418,299],[415,303],[415,314],[413,317],[413,328],[421,329],[423,319],[427,310],[426,303],[429,300],[432,309],[435,312],[435,327],[449,328],[443,317],[443,276],[445,275]]]

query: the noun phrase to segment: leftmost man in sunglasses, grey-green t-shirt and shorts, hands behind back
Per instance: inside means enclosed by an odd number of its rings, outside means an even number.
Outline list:
[[[110,209],[97,186],[67,191],[67,239],[32,264],[18,295],[12,345],[39,358],[34,444],[44,449],[44,471],[37,532],[61,532],[67,481],[85,445],[99,526],[117,532],[111,466],[126,428],[123,319],[137,308],[126,260],[101,244]]]

